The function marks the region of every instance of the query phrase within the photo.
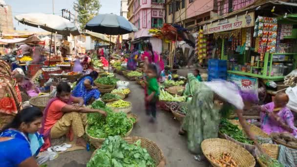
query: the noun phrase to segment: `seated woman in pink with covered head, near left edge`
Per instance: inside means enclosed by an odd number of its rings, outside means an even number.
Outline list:
[[[21,88],[23,88],[30,97],[38,96],[40,90],[29,79],[24,78],[24,76],[20,73],[17,73],[15,78],[18,85],[21,86]]]

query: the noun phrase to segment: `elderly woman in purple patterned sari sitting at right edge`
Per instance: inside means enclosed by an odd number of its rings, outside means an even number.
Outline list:
[[[277,94],[274,101],[262,106],[261,128],[267,134],[288,131],[297,137],[297,128],[294,126],[294,116],[286,106],[289,102],[287,94]]]

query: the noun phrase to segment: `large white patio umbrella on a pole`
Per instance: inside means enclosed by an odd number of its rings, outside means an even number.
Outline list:
[[[70,34],[72,34],[73,36],[80,35],[80,32],[78,31],[78,28],[74,23],[58,15],[50,15],[43,13],[27,13],[17,15],[15,16],[15,19],[23,24],[27,24],[32,27],[40,27],[46,31],[51,32],[51,39],[53,37],[53,33],[66,36],[70,36]]]

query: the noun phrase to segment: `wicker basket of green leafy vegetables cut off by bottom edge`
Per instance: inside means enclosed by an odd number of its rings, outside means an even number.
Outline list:
[[[165,167],[156,143],[142,137],[108,137],[92,154],[86,167]]]

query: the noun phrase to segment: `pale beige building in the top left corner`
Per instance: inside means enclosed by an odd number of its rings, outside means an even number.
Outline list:
[[[9,5],[0,6],[0,30],[3,35],[14,33],[11,6]]]

